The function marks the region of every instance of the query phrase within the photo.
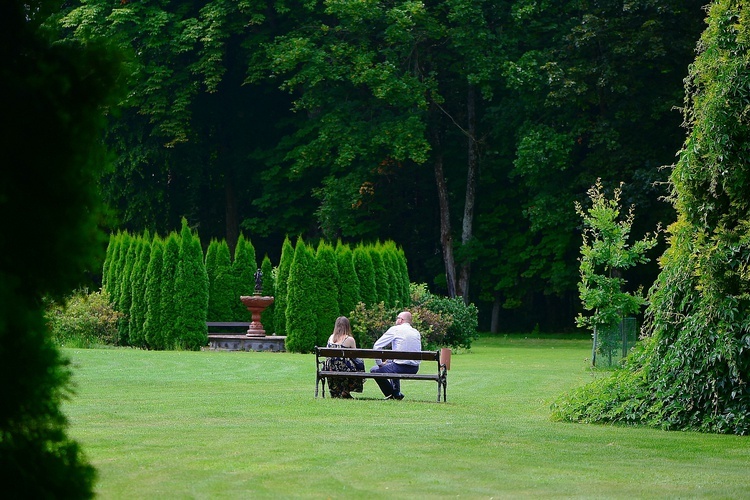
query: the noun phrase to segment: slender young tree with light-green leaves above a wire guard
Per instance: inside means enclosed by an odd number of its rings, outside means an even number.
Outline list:
[[[621,194],[620,187],[607,199],[598,179],[588,190],[591,206],[584,209],[580,203],[575,205],[576,213],[583,220],[578,291],[583,308],[591,311],[587,316],[579,314],[576,323],[594,332],[593,364],[596,364],[597,354],[614,348],[598,335],[602,329],[617,325],[625,316],[639,313],[646,304],[642,290],[629,293],[623,289],[627,283],[623,271],[648,262],[646,252],[657,243],[656,234],[647,234],[630,244],[635,212],[631,205],[627,216],[621,217]]]

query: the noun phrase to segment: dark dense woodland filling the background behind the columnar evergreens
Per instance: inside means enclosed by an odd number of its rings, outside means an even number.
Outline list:
[[[654,181],[704,3],[75,0],[56,19],[131,55],[101,184],[116,228],[184,215],[273,261],[287,234],[391,239],[431,289],[559,328],[596,178],[625,182],[638,231],[674,219]]]

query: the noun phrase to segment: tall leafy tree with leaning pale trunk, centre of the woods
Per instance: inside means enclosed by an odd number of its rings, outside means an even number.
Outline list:
[[[367,207],[379,176],[403,163],[431,165],[446,287],[451,296],[468,296],[471,262],[464,259],[457,270],[451,206],[463,206],[460,238],[469,244],[481,114],[488,107],[480,103],[492,98],[507,11],[476,0],[305,6],[316,21],[277,37],[270,58],[274,75],[299,96],[295,109],[314,111],[291,154],[297,169],[325,165],[330,172],[318,192],[327,236],[340,236],[332,228],[357,230],[359,209]],[[462,154],[448,151],[451,140],[464,143]],[[449,154],[465,166],[458,200],[446,181]]]

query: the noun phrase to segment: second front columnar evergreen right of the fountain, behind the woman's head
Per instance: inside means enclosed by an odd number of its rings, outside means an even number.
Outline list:
[[[317,334],[315,345],[324,346],[339,316],[339,270],[333,247],[323,241],[315,255]]]

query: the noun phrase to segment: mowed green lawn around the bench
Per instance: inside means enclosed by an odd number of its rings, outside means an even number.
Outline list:
[[[589,350],[483,337],[438,404],[315,399],[310,354],[68,349],[64,410],[100,498],[750,498],[747,437],[552,422]]]

